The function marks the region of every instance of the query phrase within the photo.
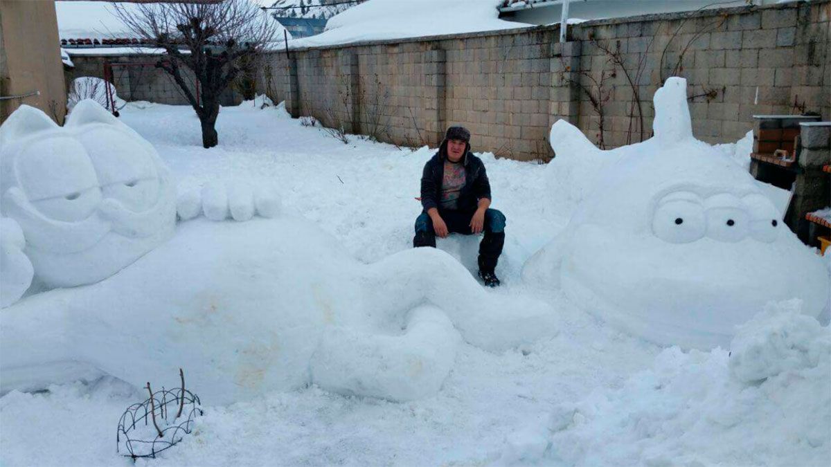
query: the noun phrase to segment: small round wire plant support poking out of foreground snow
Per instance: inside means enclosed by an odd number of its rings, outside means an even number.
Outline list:
[[[133,404],[121,415],[116,430],[116,451],[136,460],[155,458],[184,440],[194,428],[194,419],[204,415],[199,396],[184,389],[184,372],[179,368],[182,386],[153,392],[150,397]]]

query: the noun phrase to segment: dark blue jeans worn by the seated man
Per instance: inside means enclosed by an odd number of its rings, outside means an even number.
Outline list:
[[[447,224],[447,231],[452,234],[473,234],[470,229],[470,219],[473,212],[439,209],[441,219]],[[493,273],[502,247],[505,243],[505,215],[497,209],[488,209],[484,212],[484,238],[479,243],[479,270],[483,273]],[[435,230],[433,219],[427,213],[421,213],[416,219],[416,237],[413,238],[413,247],[435,248]]]

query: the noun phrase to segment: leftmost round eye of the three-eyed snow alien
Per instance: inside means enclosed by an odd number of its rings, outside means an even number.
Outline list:
[[[706,232],[704,207],[696,194],[670,194],[652,215],[652,233],[669,243],[690,243]]]

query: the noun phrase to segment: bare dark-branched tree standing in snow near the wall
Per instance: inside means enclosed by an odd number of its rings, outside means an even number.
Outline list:
[[[202,124],[202,145],[219,143],[219,96],[244,65],[273,42],[275,22],[250,0],[181,0],[113,3],[116,15],[135,35],[165,50],[155,66],[170,73]],[[196,77],[191,91],[184,68]]]

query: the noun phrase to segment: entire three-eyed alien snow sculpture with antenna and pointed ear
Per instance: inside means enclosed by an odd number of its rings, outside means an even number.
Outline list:
[[[553,125],[553,170],[608,161],[524,278],[664,345],[726,347],[770,301],[798,297],[819,316],[829,274],[755,180],[692,137],[686,81],[667,80],[654,101],[655,136],[637,145],[597,150],[573,125]]]

